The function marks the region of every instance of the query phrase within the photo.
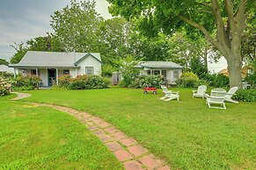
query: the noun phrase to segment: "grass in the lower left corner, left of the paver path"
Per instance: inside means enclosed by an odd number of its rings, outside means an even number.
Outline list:
[[[0,97],[0,169],[123,169],[77,119]]]

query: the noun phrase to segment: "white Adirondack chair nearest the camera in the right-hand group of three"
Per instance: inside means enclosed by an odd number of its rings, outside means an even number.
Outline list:
[[[205,95],[207,98],[206,104],[208,104],[208,107],[226,110],[226,105],[224,103],[226,92],[227,91],[225,89],[212,89],[210,92],[210,96],[208,96],[207,94]]]

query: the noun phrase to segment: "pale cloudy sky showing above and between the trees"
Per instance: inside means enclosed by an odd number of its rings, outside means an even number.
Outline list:
[[[95,0],[96,11],[103,18],[111,18],[106,0]],[[14,42],[26,42],[46,32],[52,32],[51,15],[69,4],[69,0],[0,0],[0,58],[10,60],[15,50]],[[209,63],[211,72],[226,67],[226,61]]]

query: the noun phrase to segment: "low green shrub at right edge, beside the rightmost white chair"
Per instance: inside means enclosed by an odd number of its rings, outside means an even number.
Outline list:
[[[239,89],[233,96],[238,101],[256,102],[256,89]]]

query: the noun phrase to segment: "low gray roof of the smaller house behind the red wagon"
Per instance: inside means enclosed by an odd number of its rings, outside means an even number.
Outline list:
[[[141,61],[136,67],[148,67],[148,68],[183,68],[179,64],[172,61]]]

